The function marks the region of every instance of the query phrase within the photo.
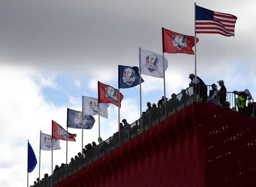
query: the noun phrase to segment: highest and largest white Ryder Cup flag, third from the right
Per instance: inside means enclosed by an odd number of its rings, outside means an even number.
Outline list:
[[[164,71],[167,70],[168,61],[164,58]],[[141,74],[163,78],[163,56],[149,50],[141,49],[139,62]]]

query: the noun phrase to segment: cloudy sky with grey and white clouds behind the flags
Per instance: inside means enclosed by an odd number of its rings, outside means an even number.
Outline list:
[[[238,17],[235,37],[200,34],[197,74],[205,83],[225,80],[228,91],[249,88],[256,96],[256,2],[196,1],[197,5]],[[81,110],[81,96],[97,97],[97,80],[117,87],[117,66],[138,66],[138,48],[162,51],[161,28],[193,35],[194,1],[51,0],[0,2],[0,186],[27,182],[27,139],[39,158],[39,131],[51,133],[51,120],[65,126],[67,107]],[[194,56],[166,54],[167,97],[188,87]],[[163,79],[143,76],[143,110],[163,95]],[[139,116],[138,87],[121,90],[121,118]],[[118,109],[101,118],[107,139],[117,131]],[[97,117],[96,117],[97,124]],[[69,143],[68,159],[81,150]],[[97,140],[98,126],[85,130],[84,142]],[[65,142],[53,165],[65,163]],[[41,173],[51,173],[51,152],[42,151]],[[38,165],[29,183],[38,177]]]

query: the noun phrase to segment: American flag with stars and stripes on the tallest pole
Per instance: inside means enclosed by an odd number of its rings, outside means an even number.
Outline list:
[[[218,33],[234,36],[237,17],[196,6],[196,33]]]

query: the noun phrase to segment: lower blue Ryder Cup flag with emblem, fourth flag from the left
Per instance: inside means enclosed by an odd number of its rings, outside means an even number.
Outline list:
[[[82,112],[68,108],[68,128],[74,129],[92,129],[95,119],[93,116],[83,116]]]

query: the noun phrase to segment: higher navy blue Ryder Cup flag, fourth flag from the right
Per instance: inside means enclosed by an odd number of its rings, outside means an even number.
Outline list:
[[[141,78],[141,82],[144,80]],[[139,84],[139,67],[118,66],[118,87],[131,88]]]

